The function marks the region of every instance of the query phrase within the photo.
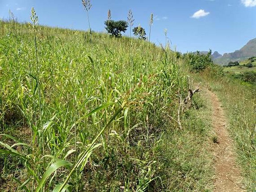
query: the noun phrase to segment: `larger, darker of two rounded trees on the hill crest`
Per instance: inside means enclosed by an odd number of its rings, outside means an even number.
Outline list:
[[[127,30],[128,24],[126,21],[113,21],[108,20],[104,22],[108,33],[110,33],[114,37],[121,37],[121,32],[125,32]]]

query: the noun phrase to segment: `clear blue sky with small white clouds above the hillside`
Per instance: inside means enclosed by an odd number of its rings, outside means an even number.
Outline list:
[[[221,54],[234,52],[256,37],[256,0],[91,0],[91,3],[92,30],[104,31],[108,9],[114,20],[126,20],[132,9],[133,27],[140,24],[148,32],[152,12],[151,40],[164,43],[167,29],[172,47],[183,53],[209,49]],[[18,21],[30,21],[32,6],[40,24],[88,28],[81,0],[0,0],[0,18],[9,18],[11,10]]]

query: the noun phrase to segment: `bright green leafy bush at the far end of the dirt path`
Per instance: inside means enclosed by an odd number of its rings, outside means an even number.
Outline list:
[[[185,60],[191,71],[203,71],[207,66],[213,65],[212,50],[209,50],[207,54],[200,53],[199,51],[196,53],[186,53]]]

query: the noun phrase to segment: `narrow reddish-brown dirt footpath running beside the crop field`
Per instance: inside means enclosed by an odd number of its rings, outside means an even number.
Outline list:
[[[235,164],[235,152],[232,139],[227,130],[227,120],[218,97],[207,91],[213,105],[213,127],[217,136],[214,144],[215,189],[214,192],[242,192],[241,176]]]

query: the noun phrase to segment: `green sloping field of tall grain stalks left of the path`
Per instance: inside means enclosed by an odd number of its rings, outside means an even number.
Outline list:
[[[1,190],[213,189],[210,109],[178,128],[188,80],[175,53],[43,26],[35,46],[32,26],[0,25]]]

